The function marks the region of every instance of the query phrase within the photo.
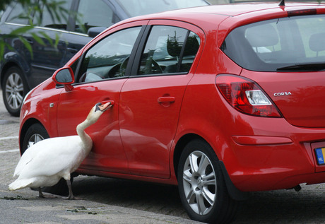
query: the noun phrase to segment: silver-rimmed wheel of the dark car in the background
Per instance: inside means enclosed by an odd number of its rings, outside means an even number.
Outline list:
[[[28,85],[23,77],[23,71],[18,67],[13,66],[4,73],[4,81],[2,83],[4,105],[13,116],[19,116],[23,99],[28,90]]]

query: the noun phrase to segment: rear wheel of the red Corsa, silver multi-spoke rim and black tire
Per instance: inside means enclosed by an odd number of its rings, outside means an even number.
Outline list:
[[[211,146],[195,139],[185,146],[177,168],[179,196],[189,217],[203,223],[230,223],[238,201],[230,198]]]

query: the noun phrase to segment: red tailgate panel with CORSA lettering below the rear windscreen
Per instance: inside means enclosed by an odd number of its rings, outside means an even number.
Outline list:
[[[276,103],[283,117],[294,126],[324,127],[325,118],[325,72],[265,73],[243,71],[242,76],[251,78],[268,93]],[[272,76],[274,82],[269,82]],[[291,80],[295,80],[291,82]],[[276,84],[276,85],[275,85]]]

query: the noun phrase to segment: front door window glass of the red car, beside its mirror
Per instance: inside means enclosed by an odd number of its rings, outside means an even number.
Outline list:
[[[125,76],[126,65],[141,27],[112,33],[91,47],[79,69],[78,82],[100,81]]]

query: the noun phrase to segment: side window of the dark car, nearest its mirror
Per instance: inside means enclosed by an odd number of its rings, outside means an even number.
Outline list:
[[[85,31],[93,27],[109,27],[114,22],[112,8],[102,0],[81,0],[78,6],[77,24],[85,26]],[[83,30],[76,25],[76,32]]]

